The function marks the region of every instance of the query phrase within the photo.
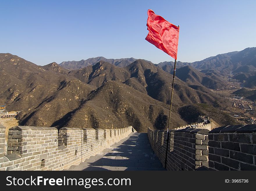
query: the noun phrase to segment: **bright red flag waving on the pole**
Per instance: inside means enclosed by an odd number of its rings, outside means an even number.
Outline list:
[[[151,9],[147,11],[147,15],[149,32],[146,40],[177,60],[179,27],[156,15]]]

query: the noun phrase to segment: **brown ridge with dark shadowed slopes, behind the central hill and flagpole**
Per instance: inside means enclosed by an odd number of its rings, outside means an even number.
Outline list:
[[[135,89],[141,92],[147,92],[150,97],[170,104],[173,75],[140,59],[124,69],[127,69],[131,73],[130,79],[133,80],[132,87],[136,86]],[[226,103],[224,99],[212,94],[210,90],[208,90],[207,93],[195,90],[178,78],[175,79],[173,99],[174,105],[176,104],[177,106],[189,103],[211,104],[215,100]]]

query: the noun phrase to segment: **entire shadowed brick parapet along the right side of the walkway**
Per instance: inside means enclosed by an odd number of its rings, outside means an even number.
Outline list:
[[[167,170],[256,170],[256,124],[167,131],[148,129],[152,149]]]

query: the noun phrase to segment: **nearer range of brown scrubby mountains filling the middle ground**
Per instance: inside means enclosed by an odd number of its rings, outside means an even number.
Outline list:
[[[21,111],[20,125],[61,128],[120,128],[132,125],[139,132],[148,127],[166,129],[173,76],[146,60],[125,67],[99,61],[67,70],[57,63],[38,66],[10,53],[0,54],[0,103]],[[205,77],[205,76],[204,76]],[[179,108],[207,104],[218,110],[197,107],[198,113],[223,119],[222,107],[231,106],[208,88],[188,85],[177,78],[174,85],[171,127],[188,123]],[[187,114],[186,114],[187,115]]]

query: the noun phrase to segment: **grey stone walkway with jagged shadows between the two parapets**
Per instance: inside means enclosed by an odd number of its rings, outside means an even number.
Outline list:
[[[64,169],[66,170],[66,169]],[[152,150],[147,133],[131,133],[103,153],[68,170],[166,170]]]

